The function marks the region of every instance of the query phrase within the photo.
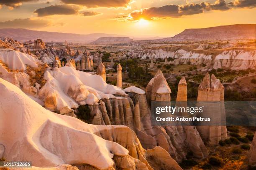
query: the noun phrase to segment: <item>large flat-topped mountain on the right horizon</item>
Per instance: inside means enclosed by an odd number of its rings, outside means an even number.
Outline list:
[[[256,39],[256,24],[224,25],[210,28],[185,29],[174,37],[161,40],[237,40]]]

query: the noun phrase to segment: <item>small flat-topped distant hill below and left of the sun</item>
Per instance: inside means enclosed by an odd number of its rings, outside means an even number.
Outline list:
[[[132,41],[132,39],[129,37],[100,37],[91,43],[92,44],[117,44],[117,43],[126,43],[130,41]]]

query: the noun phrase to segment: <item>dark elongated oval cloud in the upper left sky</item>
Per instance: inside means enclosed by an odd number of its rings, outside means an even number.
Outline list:
[[[80,7],[78,5],[51,5],[44,8],[39,8],[34,11],[38,17],[44,17],[48,15],[73,15],[77,14]]]

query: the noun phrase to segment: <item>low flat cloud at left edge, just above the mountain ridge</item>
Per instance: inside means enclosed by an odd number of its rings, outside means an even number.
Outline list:
[[[15,19],[0,22],[0,28],[41,28],[50,25],[51,22],[48,20],[32,20],[31,18]]]

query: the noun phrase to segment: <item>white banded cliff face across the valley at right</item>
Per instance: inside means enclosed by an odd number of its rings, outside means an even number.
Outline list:
[[[215,47],[212,47],[215,48]],[[198,50],[204,50],[203,45],[198,47]],[[203,52],[194,52],[187,50],[168,50],[168,49],[151,49],[140,47],[136,49],[131,49],[128,53],[131,57],[138,57],[141,59],[153,58],[173,58],[174,60],[169,62],[169,64],[191,64],[191,65],[201,65],[202,63],[206,65],[212,65],[214,69],[218,68],[230,68],[234,70],[244,70],[247,68],[256,67],[256,50],[223,50],[220,54],[206,55]]]

